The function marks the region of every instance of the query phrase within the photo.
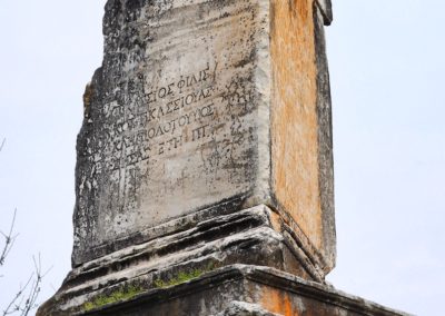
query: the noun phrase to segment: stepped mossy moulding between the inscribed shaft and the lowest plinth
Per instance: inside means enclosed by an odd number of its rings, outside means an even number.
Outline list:
[[[268,266],[324,283],[320,261],[291,234],[293,224],[269,207],[226,214],[219,207],[219,216],[215,211],[209,208],[154,227],[146,231],[150,241],[73,268],[39,315],[72,315],[111,297],[128,298],[235,264]]]

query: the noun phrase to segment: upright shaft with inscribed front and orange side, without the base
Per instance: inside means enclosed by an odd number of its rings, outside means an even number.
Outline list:
[[[317,269],[334,267],[330,103],[317,57],[326,3],[107,2],[103,63],[78,137],[75,267],[202,209],[260,204]]]

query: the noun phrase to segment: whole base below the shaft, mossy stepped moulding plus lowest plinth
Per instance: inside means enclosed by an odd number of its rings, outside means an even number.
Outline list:
[[[38,315],[402,315],[328,287],[322,261],[269,207],[217,210],[73,268]]]

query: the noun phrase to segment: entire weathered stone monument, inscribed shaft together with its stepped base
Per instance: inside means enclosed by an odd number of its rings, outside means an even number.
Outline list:
[[[329,0],[108,0],[39,315],[399,315],[335,266]]]

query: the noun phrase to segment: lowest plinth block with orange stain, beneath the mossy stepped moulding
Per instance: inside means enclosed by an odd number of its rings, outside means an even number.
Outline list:
[[[78,315],[407,315],[273,268],[234,265]]]

